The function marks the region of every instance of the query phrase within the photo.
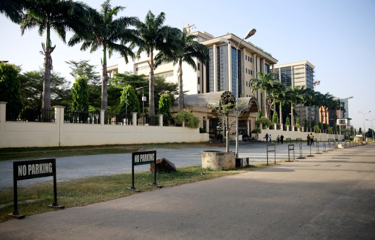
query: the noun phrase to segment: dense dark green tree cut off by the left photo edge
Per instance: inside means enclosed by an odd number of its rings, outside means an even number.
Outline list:
[[[0,62],[0,101],[6,101],[6,111],[15,116],[22,108],[18,72],[15,65]]]

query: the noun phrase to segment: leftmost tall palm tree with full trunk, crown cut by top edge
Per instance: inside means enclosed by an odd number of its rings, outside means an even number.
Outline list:
[[[21,20],[21,34],[25,29],[38,27],[39,35],[46,32],[45,44],[42,43],[44,54],[43,101],[44,108],[50,107],[50,77],[52,69],[52,46],[50,31],[53,29],[65,43],[66,30],[78,31],[84,28],[88,6],[83,2],[71,0],[32,0],[27,4],[26,13]]]

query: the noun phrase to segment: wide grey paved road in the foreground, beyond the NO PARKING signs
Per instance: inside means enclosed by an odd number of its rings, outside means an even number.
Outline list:
[[[0,223],[1,239],[375,239],[375,145]]]

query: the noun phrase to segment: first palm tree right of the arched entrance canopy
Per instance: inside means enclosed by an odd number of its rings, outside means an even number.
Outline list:
[[[269,118],[269,109],[271,99],[269,97],[270,91],[279,83],[279,80],[274,79],[274,72],[258,72],[259,78],[250,79],[251,91],[261,90],[264,92],[264,116]]]

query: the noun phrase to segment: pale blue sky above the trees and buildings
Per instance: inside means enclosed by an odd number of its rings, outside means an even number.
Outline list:
[[[83,0],[99,9],[103,0]],[[307,60],[315,66],[315,80],[320,84],[314,90],[329,92],[348,100],[346,116],[355,128],[368,129],[375,119],[375,74],[372,74],[375,56],[375,0],[111,0],[111,5],[126,8],[118,16],[137,16],[140,20],[148,10],[155,15],[166,14],[165,24],[182,28],[195,24],[191,31],[206,31],[213,36],[233,33],[243,37],[247,30],[256,28],[248,38],[278,60],[278,64]],[[0,60],[22,65],[22,71],[37,70],[43,66],[40,54],[45,34],[39,36],[36,28],[21,36],[19,26],[0,15]],[[67,34],[66,41],[72,35]],[[80,51],[80,45],[69,47],[55,33],[51,35],[53,70],[73,81],[65,61],[87,59],[98,65],[102,50],[93,53]],[[113,54],[107,65],[117,64]],[[371,93],[372,92],[372,93]],[[370,112],[363,114],[364,112]],[[360,113],[361,111],[363,113]],[[372,126],[375,120],[372,121]]]

